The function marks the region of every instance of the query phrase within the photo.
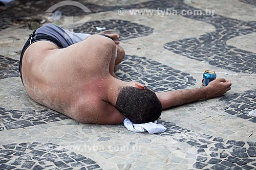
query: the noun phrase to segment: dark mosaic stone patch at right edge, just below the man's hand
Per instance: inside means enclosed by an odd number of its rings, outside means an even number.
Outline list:
[[[256,110],[256,90],[247,90],[243,93],[234,93],[220,99],[221,102],[227,102],[225,112],[236,115],[256,123],[256,117],[248,115],[252,110]]]

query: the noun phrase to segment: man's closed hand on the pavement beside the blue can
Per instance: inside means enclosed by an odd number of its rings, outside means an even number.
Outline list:
[[[206,98],[215,98],[231,89],[231,81],[226,81],[223,78],[216,79],[211,81],[204,89]]]

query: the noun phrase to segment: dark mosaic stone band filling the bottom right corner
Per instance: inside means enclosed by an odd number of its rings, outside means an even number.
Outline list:
[[[159,121],[167,130],[160,136],[173,136],[197,148],[197,159],[193,166],[197,169],[255,169],[256,142],[228,140],[200,134],[182,128],[172,122]]]

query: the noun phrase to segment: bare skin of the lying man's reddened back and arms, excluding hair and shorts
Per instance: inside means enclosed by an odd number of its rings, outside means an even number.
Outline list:
[[[62,49],[49,41],[31,44],[24,54],[22,66],[28,94],[36,102],[79,122],[122,123],[125,117],[115,108],[119,88],[134,86],[142,89],[144,86],[116,78],[114,69],[124,57],[118,44],[118,41],[100,35],[91,35]],[[115,62],[116,48],[118,57]],[[230,86],[230,80],[217,79],[201,89],[156,94],[165,109],[214,98],[224,94]]]

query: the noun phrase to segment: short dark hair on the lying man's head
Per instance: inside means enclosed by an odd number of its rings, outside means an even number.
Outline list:
[[[162,113],[156,93],[148,88],[122,87],[119,91],[117,110],[135,124],[154,122]]]

